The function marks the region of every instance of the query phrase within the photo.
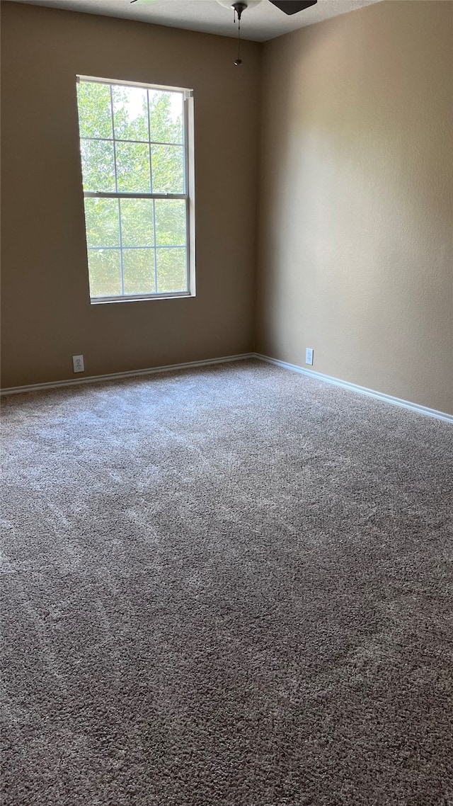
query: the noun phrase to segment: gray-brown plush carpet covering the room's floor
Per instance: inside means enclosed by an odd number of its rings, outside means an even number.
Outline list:
[[[453,804],[453,429],[255,361],[3,402],[5,806]]]

